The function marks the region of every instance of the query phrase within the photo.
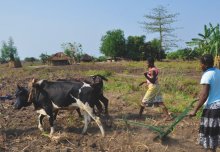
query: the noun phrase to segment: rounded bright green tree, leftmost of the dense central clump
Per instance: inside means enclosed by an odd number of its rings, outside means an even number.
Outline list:
[[[112,58],[123,57],[125,55],[124,32],[120,29],[107,31],[101,38],[100,51]]]

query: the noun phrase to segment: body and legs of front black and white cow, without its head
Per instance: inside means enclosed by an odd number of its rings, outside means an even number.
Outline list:
[[[28,103],[33,102],[39,115],[38,128],[43,131],[42,120],[45,116],[49,117],[51,126],[50,135],[54,133],[54,117],[53,112],[60,109],[80,108],[84,112],[84,128],[83,133],[87,131],[91,118],[98,124],[102,135],[104,129],[99,117],[93,113],[94,89],[85,82],[79,81],[32,81],[32,89],[29,95]],[[17,103],[15,103],[17,104]],[[17,106],[19,106],[17,104]]]

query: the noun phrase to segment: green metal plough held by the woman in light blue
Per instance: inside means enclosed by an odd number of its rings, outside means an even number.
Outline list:
[[[126,124],[129,124],[129,125],[134,125],[134,126],[139,126],[139,127],[144,127],[144,128],[148,128],[150,130],[153,130],[155,132],[158,133],[158,135],[155,137],[155,139],[157,138],[160,138],[160,139],[163,139],[165,138],[168,134],[170,134],[173,129],[175,128],[175,126],[181,121],[183,120],[183,118],[185,118],[188,114],[188,112],[191,110],[193,104],[197,101],[198,99],[196,100],[193,100],[185,109],[184,111],[178,115],[174,121],[168,125],[168,126],[153,126],[153,125],[146,125],[144,123],[139,123],[139,122],[135,122],[135,121],[130,121],[130,120],[127,120],[126,118],[123,118],[123,119],[118,119],[118,120],[122,120],[124,121]]]

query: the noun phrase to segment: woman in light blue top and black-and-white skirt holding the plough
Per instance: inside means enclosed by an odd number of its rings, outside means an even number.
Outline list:
[[[204,105],[199,128],[199,144],[205,151],[215,152],[220,144],[220,70],[214,68],[212,55],[203,55],[201,60],[203,75],[199,101],[189,113],[193,117]]]

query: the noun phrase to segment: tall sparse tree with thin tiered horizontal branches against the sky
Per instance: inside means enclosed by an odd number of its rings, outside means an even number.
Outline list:
[[[175,35],[171,24],[176,22],[178,13],[170,14],[166,7],[158,6],[151,13],[144,15],[146,21],[141,22],[149,33],[159,33],[160,54],[176,46]],[[160,57],[161,58],[161,57]]]

